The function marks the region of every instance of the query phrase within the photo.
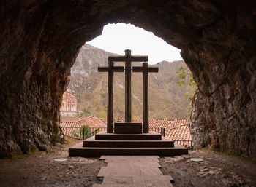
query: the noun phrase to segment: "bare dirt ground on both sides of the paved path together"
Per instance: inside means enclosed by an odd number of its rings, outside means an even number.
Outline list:
[[[68,157],[68,148],[80,140],[68,138],[53,146],[15,159],[0,159],[0,186],[92,186],[105,166],[99,158]],[[56,161],[55,159],[67,159]],[[201,162],[192,158],[203,159]],[[172,175],[173,186],[256,186],[256,164],[213,151],[189,151],[188,155],[159,159],[164,175]]]

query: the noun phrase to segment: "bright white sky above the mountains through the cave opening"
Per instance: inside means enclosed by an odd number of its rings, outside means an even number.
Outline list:
[[[167,44],[152,32],[131,24],[105,25],[102,35],[87,43],[118,55],[124,55],[124,50],[130,49],[132,55],[148,55],[150,64],[156,64],[163,60],[170,62],[182,60],[180,49]]]

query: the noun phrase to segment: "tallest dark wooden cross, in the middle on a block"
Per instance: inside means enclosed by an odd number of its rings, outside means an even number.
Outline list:
[[[131,71],[132,62],[146,62],[148,56],[132,56],[131,50],[125,50],[124,56],[108,57],[112,62],[125,62],[125,122],[132,121]]]

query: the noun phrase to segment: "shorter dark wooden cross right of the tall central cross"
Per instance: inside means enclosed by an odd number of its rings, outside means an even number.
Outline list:
[[[148,73],[157,73],[158,68],[148,68],[148,63],[142,67],[132,67],[132,72],[143,72],[143,133],[148,133]]]

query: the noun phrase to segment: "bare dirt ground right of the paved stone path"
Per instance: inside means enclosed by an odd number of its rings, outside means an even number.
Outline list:
[[[194,162],[191,159],[203,159]],[[189,151],[188,155],[161,157],[162,173],[176,187],[256,186],[256,164],[214,151]]]

